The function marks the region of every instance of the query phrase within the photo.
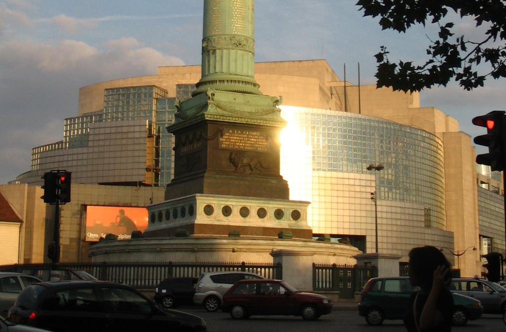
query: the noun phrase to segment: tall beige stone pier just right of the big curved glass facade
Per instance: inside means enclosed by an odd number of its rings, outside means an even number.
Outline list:
[[[446,229],[454,233],[453,252],[479,245],[478,194],[475,148],[465,133],[443,133],[445,146]],[[460,274],[466,277],[481,271],[479,250],[459,257]],[[455,262],[456,264],[456,262]],[[455,266],[457,268],[457,266]]]

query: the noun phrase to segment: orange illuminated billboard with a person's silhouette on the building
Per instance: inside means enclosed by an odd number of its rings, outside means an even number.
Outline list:
[[[118,240],[129,240],[133,231],[148,227],[148,210],[127,206],[86,207],[86,240],[98,241],[106,234],[118,236]]]

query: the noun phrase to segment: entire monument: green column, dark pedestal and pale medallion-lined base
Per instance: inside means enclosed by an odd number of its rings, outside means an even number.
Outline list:
[[[279,174],[281,97],[259,90],[254,30],[254,0],[204,0],[202,77],[167,127],[174,179],[148,207],[147,236],[311,238],[309,202],[289,200]]]

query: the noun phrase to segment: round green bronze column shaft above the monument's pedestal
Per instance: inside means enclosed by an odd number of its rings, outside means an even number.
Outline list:
[[[262,95],[254,78],[254,0],[204,0],[202,77],[207,89]]]

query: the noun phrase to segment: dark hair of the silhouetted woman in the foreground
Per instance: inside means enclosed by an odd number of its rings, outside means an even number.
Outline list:
[[[434,270],[443,265],[450,269],[450,263],[443,253],[431,245],[412,248],[409,252],[410,273],[416,276],[420,286],[432,287]]]

